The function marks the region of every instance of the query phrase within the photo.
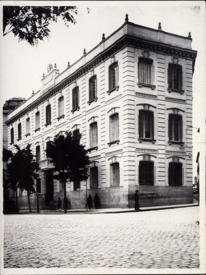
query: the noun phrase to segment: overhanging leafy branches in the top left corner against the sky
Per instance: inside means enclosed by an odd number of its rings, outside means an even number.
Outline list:
[[[26,40],[37,46],[39,40],[50,36],[51,21],[57,22],[61,17],[68,27],[69,22],[76,23],[73,14],[77,14],[76,6],[3,6],[3,36],[13,32],[19,41]],[[9,29],[5,32],[7,26]]]

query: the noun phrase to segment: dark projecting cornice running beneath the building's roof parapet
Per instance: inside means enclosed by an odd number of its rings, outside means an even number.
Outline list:
[[[78,78],[80,78],[85,73],[90,72],[91,69],[93,69],[94,67],[99,65],[101,62],[107,60],[112,55],[114,55],[116,52],[122,50],[126,46],[140,48],[141,50],[146,49],[149,51],[167,54],[170,56],[179,56],[179,57],[185,58],[185,59],[189,58],[189,59],[192,59],[193,61],[195,60],[196,55],[197,55],[197,51],[194,51],[194,50],[171,46],[170,44],[151,41],[151,40],[147,40],[144,38],[135,37],[133,35],[124,34],[121,38],[116,40],[112,45],[110,45],[104,51],[102,51],[99,54],[97,54],[96,56],[94,56],[93,59],[88,61],[83,66],[79,67],[75,72],[73,72],[71,75],[64,78],[56,86],[51,87],[51,89],[49,89],[47,92],[45,92],[39,98],[37,98],[29,106],[26,106],[22,111],[18,112],[18,114],[16,114],[15,116],[13,116],[9,120],[7,120],[5,122],[5,124],[8,126],[8,125],[12,124],[13,122],[15,122],[17,119],[20,119],[27,112],[30,112],[31,110],[36,108],[38,105],[40,105],[44,101],[51,98],[54,94],[58,93],[63,88],[65,88],[69,84],[76,81]],[[194,68],[194,62],[193,62],[193,68]]]

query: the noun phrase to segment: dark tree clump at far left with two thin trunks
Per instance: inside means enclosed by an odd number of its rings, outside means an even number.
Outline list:
[[[6,169],[8,174],[7,184],[16,192],[16,207],[18,207],[17,188],[27,191],[29,212],[31,213],[29,195],[30,192],[36,193],[34,189],[34,179],[39,177],[39,175],[35,173],[35,171],[39,169],[39,164],[34,160],[34,155],[30,149],[31,144],[27,144],[24,149],[21,149],[18,145],[14,146],[17,152],[10,154],[9,163]],[[9,154],[8,152],[6,153],[7,155]]]

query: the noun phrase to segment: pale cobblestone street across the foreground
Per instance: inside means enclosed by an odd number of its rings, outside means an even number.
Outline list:
[[[198,268],[199,207],[4,215],[4,268]]]

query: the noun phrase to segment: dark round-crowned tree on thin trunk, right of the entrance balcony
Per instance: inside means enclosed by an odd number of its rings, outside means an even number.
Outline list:
[[[85,146],[80,144],[82,135],[73,136],[65,131],[65,135],[57,134],[54,141],[48,143],[46,155],[51,158],[54,171],[53,178],[64,184],[64,200],[66,201],[66,183],[74,180],[87,180],[89,177],[90,160]],[[64,207],[66,213],[66,207]]]

